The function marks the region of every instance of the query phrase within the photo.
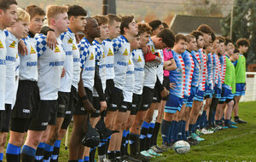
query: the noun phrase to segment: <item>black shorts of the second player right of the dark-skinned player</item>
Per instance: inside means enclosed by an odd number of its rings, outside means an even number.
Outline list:
[[[116,111],[121,107],[122,102],[124,101],[123,90],[119,90],[118,88],[113,88],[113,93],[109,98],[109,106],[108,111]]]

